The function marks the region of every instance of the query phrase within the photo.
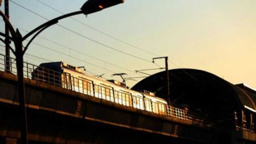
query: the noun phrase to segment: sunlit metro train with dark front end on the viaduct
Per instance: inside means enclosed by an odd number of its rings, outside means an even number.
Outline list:
[[[147,90],[142,92],[131,90],[123,82],[94,77],[85,73],[82,67],[64,62],[41,63],[33,70],[32,79],[127,107],[167,115],[167,101],[156,97],[154,93]]]

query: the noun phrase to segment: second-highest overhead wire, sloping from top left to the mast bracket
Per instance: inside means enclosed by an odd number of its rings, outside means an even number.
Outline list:
[[[33,12],[32,10],[27,9],[26,7],[23,7],[22,5],[19,5],[18,3],[15,3],[15,2],[12,1],[12,0],[9,0],[9,1],[11,1],[12,3],[14,3],[15,5],[18,5],[19,7],[22,7],[22,8],[25,9],[25,10],[28,10],[29,12],[32,12],[33,14],[35,14],[35,15],[37,15],[37,16],[39,16],[39,17],[45,19],[45,20],[49,20],[48,18],[45,18],[44,16],[41,16],[40,14],[37,14],[36,12]],[[137,58],[137,59],[139,59],[139,60],[143,60],[143,61],[145,61],[145,62],[150,62],[150,63],[151,63],[150,60],[146,60],[146,59],[144,59],[144,58],[140,58],[139,56],[135,56],[135,55],[133,55],[133,54],[129,54],[129,53],[123,52],[123,51],[121,51],[121,50],[117,50],[116,48],[114,48],[114,47],[112,47],[112,46],[105,45],[105,44],[100,43],[100,42],[98,42],[98,41],[96,41],[96,40],[94,40],[94,39],[91,39],[91,38],[89,38],[89,37],[86,37],[85,35],[81,35],[81,33],[77,33],[77,32],[75,32],[75,31],[73,31],[72,29],[69,29],[69,28],[67,28],[67,27],[64,27],[64,26],[62,26],[62,25],[60,25],[60,24],[56,24],[56,25],[58,25],[58,26],[60,26],[60,27],[62,27],[62,28],[64,28],[64,29],[66,29],[66,30],[68,30],[68,31],[70,31],[70,32],[72,32],[72,33],[75,33],[76,35],[79,35],[79,36],[81,36],[81,37],[84,37],[85,39],[88,39],[88,40],[90,40],[90,41],[93,41],[93,42],[97,43],[98,45],[105,46],[106,48],[110,48],[110,49],[115,50],[115,51],[117,51],[117,52],[120,52],[120,53],[122,53],[122,54],[126,54],[127,56],[131,56],[131,57],[133,57],[133,58]]]

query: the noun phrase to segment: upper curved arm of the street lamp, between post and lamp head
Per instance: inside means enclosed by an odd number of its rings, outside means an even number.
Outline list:
[[[76,12],[70,12],[68,14],[64,14],[62,16],[58,16],[57,18],[54,18],[53,20],[49,20],[48,22],[45,22],[44,24],[41,24],[40,26],[38,27],[35,27],[35,29],[33,29],[32,31],[30,31],[28,34],[24,35],[24,37],[22,37],[22,41],[24,41],[25,39],[27,39],[28,37],[30,37],[31,35],[33,35],[33,33],[35,33],[36,31],[39,31],[40,29],[45,29],[46,27],[49,27],[49,26],[53,26],[54,24],[58,23],[58,20],[61,20],[63,18],[67,18],[67,17],[70,17],[70,16],[74,16],[74,15],[77,15],[77,14],[83,14],[83,11],[82,10],[79,10],[79,11],[76,11]],[[45,28],[44,28],[45,27]],[[41,32],[41,31],[40,31]],[[39,34],[39,33],[38,33]],[[38,35],[37,34],[37,35]],[[33,37],[34,39],[34,37]]]

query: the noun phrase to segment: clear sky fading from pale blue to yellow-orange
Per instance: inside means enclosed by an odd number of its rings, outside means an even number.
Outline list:
[[[83,3],[10,0],[10,20],[26,35],[48,20],[79,10]],[[163,59],[152,63],[152,58],[168,56],[169,69],[201,69],[256,88],[255,8],[255,0],[126,0],[87,16],[60,20],[33,41],[24,60],[35,65],[62,61],[121,81],[112,74],[143,77],[147,75],[135,70],[156,69],[143,71],[152,75],[165,67]],[[4,29],[0,20],[0,31]],[[1,43],[0,54],[4,53]],[[127,85],[141,80],[129,80]]]

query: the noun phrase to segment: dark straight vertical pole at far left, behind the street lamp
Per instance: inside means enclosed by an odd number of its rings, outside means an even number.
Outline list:
[[[5,16],[9,20],[9,0],[5,0]],[[11,71],[9,28],[5,23],[5,71]]]

